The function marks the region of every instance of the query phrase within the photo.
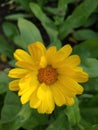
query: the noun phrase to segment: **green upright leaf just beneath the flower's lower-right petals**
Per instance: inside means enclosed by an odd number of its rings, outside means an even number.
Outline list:
[[[65,109],[65,114],[67,115],[68,120],[72,125],[76,125],[80,122],[81,116],[79,111],[79,102],[77,98],[75,98],[75,104],[73,106],[68,106]]]

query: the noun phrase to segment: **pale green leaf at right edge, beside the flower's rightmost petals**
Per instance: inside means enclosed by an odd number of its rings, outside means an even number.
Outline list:
[[[82,67],[89,74],[90,78],[98,77],[98,60],[95,58],[86,58]]]

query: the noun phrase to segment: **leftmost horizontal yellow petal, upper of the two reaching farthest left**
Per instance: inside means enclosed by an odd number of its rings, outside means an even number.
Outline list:
[[[15,68],[9,71],[8,76],[11,78],[22,78],[28,74],[28,72],[26,69]]]

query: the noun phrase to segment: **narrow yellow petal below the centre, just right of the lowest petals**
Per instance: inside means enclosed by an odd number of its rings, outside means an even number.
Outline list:
[[[61,90],[58,87],[58,84],[53,84],[50,87],[52,93],[53,93],[53,97],[54,97],[54,101],[56,103],[56,105],[58,106],[62,106],[65,104],[65,97],[63,95],[63,93],[61,92]]]

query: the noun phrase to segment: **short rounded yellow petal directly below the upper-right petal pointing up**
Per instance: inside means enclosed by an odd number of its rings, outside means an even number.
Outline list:
[[[72,67],[76,67],[80,64],[80,57],[78,55],[71,55],[66,58],[65,64],[70,65]]]

